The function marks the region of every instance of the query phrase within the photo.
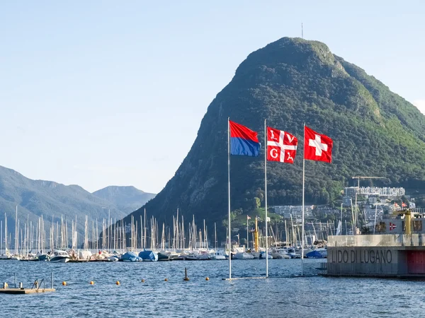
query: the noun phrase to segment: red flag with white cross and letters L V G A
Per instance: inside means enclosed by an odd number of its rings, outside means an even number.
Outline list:
[[[294,163],[298,139],[286,131],[267,127],[267,160]]]

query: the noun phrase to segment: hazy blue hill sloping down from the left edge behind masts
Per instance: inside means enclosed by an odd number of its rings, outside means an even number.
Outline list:
[[[49,237],[50,223],[53,217],[54,223],[67,220],[69,237],[71,233],[71,221],[77,216],[77,230],[79,242],[84,235],[84,220],[89,218],[89,232],[96,227],[98,221],[98,232],[102,230],[103,219],[108,220],[108,209],[111,209],[111,218],[120,219],[127,213],[120,210],[112,202],[101,199],[77,185],[65,186],[52,181],[32,180],[24,177],[15,170],[0,166],[0,220],[3,221],[4,235],[4,213],[8,220],[8,234],[12,241],[15,230],[15,207],[18,206],[18,220],[23,228],[24,223],[38,222],[43,216],[45,220],[46,237]],[[94,222],[94,223],[93,223]],[[91,234],[89,236],[91,239]],[[13,242],[11,242],[13,247]]]

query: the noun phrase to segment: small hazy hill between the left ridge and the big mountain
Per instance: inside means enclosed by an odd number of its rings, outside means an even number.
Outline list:
[[[93,192],[95,196],[110,201],[117,206],[120,211],[131,213],[143,206],[147,201],[153,199],[156,194],[143,192],[135,187],[110,186]]]

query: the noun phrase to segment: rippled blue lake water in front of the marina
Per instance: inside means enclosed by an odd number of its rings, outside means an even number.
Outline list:
[[[264,260],[232,261],[234,277],[263,276]],[[183,281],[184,268],[190,281]],[[319,260],[306,259],[312,273]],[[424,317],[424,282],[278,278],[300,260],[271,259],[269,279],[222,281],[228,261],[53,264],[0,261],[0,282],[30,287],[53,272],[55,293],[0,294],[1,317]],[[205,277],[210,281],[205,281]],[[145,283],[142,283],[142,278]],[[165,282],[164,278],[169,281]],[[67,281],[67,286],[62,286]],[[94,285],[89,282],[94,281]],[[120,281],[120,285],[115,285]]]

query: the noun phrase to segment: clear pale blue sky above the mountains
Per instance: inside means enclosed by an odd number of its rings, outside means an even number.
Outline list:
[[[425,109],[425,1],[294,2],[1,1],[0,165],[159,192],[237,66],[301,22]]]

